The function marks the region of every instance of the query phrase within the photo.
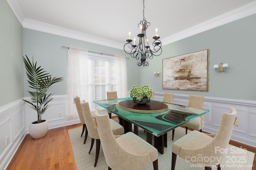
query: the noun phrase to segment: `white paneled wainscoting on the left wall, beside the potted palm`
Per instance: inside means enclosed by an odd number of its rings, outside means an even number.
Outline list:
[[[6,169],[24,139],[24,102],[17,100],[0,107],[0,169]]]

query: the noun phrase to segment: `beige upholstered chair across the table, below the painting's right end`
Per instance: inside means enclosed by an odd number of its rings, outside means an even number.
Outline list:
[[[204,109],[204,96],[189,95],[188,106]],[[184,123],[183,126],[186,127],[186,134],[188,133],[188,127],[202,132],[202,129],[204,127],[204,115],[197,117],[192,121]],[[172,130],[172,140],[174,139],[174,130],[175,129]]]

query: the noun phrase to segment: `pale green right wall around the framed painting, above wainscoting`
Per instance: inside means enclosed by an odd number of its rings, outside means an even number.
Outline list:
[[[162,47],[160,57],[140,69],[140,84],[156,92],[194,94],[220,98],[256,100],[256,14]],[[209,49],[209,91],[162,89],[162,59]],[[213,65],[228,63],[227,72],[215,72]],[[155,77],[153,72],[160,71]]]

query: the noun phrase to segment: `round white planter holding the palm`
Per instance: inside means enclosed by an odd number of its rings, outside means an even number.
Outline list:
[[[29,125],[29,134],[32,138],[38,139],[44,137],[48,131],[49,123],[48,121],[44,121],[42,123],[30,123]]]

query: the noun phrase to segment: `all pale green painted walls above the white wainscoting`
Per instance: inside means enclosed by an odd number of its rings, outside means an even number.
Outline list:
[[[64,77],[65,81],[50,89],[50,92],[55,92],[56,95],[66,94],[68,51],[61,46],[130,58],[121,49],[22,29],[6,1],[0,1],[0,14],[0,22],[4,23],[0,27],[0,106],[29,96],[22,55],[26,54],[30,59],[34,56],[35,61],[54,76]],[[155,92],[256,100],[255,21],[256,14],[165,45],[162,47],[162,55],[150,60],[147,67],[138,67],[135,59],[127,59],[128,90],[137,84],[149,85]],[[209,49],[208,92],[162,89],[162,59],[204,49]],[[228,63],[228,71],[215,72],[212,67],[219,63]],[[155,77],[153,72],[158,70],[160,76]]]

